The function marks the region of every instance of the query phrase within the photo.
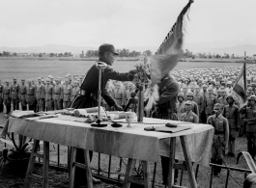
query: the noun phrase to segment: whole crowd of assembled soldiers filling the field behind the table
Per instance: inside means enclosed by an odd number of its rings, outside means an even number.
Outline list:
[[[248,102],[241,106],[239,95],[233,91],[242,67],[212,67],[212,68],[190,68],[172,70],[168,79],[177,83],[178,93],[170,93],[174,88],[171,85],[161,86],[159,83],[160,100],[150,113],[145,112],[145,116],[162,118],[177,121],[189,121],[194,123],[209,123],[215,128],[214,148],[212,162],[221,165],[223,148],[228,147],[227,155],[235,156],[235,141],[238,136],[246,133],[248,145],[247,149],[255,157],[256,143],[256,76],[255,66],[249,66],[246,70],[246,95]],[[81,83],[85,75],[80,77],[74,74],[67,74],[65,79],[61,77],[53,78],[51,75],[47,79],[39,77],[34,80],[21,79],[17,83],[16,78],[10,83],[0,81],[0,112],[3,113],[4,105],[6,114],[10,114],[11,109],[52,111],[68,108],[71,101],[79,93]],[[166,79],[166,78],[165,78]],[[168,80],[167,79],[167,80]],[[164,79],[161,82],[166,82]],[[137,96],[136,87],[130,82],[109,80],[105,89],[115,99],[116,103],[123,109],[136,112]],[[174,97],[172,94],[176,94]],[[164,98],[174,98],[174,100]],[[130,100],[133,98],[134,100]],[[132,102],[130,102],[132,101]],[[166,101],[169,104],[166,106]],[[170,102],[171,101],[171,102]],[[164,102],[163,102],[164,103]],[[102,106],[106,110],[114,110],[103,100]],[[173,106],[173,107],[171,107]],[[164,112],[164,117],[159,117]],[[164,159],[163,159],[164,160]],[[219,175],[220,170],[215,168],[214,175]]]

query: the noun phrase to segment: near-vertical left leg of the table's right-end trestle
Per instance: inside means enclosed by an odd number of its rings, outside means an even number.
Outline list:
[[[174,163],[175,163],[175,148],[176,148],[176,138],[172,137],[170,139],[170,157],[169,157],[169,174],[168,174],[168,187],[172,188],[174,185]]]

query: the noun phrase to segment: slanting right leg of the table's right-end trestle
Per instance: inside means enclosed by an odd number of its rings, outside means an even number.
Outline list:
[[[190,186],[191,188],[197,188],[197,183],[195,180],[195,175],[193,172],[193,168],[192,168],[192,162],[191,162],[191,158],[190,158],[190,154],[189,154],[189,149],[188,149],[188,145],[187,145],[187,140],[185,138],[185,136],[181,136],[181,143],[182,143],[182,147],[184,150],[184,156],[185,156],[185,167],[187,170],[187,175],[189,177],[189,181],[190,181]]]

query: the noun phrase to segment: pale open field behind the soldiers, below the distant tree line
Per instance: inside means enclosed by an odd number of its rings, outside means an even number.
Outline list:
[[[15,76],[18,81],[21,78],[37,79],[39,76],[46,78],[48,75],[64,76],[67,73],[85,73],[95,61],[59,61],[59,60],[7,60],[0,59],[0,79],[4,82],[11,80]],[[116,61],[112,66],[118,71],[128,71],[134,68],[135,61]],[[195,68],[195,67],[226,67],[242,66],[242,63],[212,63],[212,62],[180,62],[177,69]]]

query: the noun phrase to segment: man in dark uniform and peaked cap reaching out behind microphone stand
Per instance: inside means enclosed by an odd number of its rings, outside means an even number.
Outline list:
[[[115,51],[115,47],[112,44],[104,43],[100,45],[99,48],[99,61],[107,64],[108,66],[102,72],[102,82],[101,82],[101,96],[106,101],[108,106],[114,107],[117,111],[123,111],[123,108],[117,104],[115,99],[106,91],[105,85],[109,79],[119,80],[119,81],[132,81],[134,75],[130,73],[120,73],[115,71],[110,66],[113,65],[115,61],[115,56],[119,55]],[[99,91],[99,69],[96,65],[93,65],[89,68],[86,73],[86,76],[81,84],[80,92],[74,98],[71,103],[71,107],[75,109],[79,108],[89,108],[98,106],[98,91]],[[76,161],[84,163],[83,150],[77,149]],[[90,154],[92,159],[93,152]],[[78,187],[81,184],[84,184],[84,169],[77,169],[75,171],[75,186]],[[93,178],[94,182],[99,182],[99,180]]]

